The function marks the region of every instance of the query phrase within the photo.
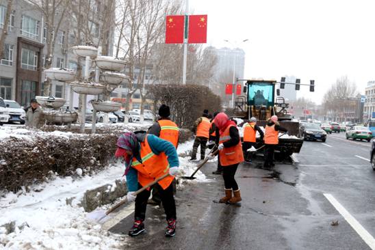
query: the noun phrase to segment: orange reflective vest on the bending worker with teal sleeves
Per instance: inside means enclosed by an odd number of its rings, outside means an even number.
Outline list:
[[[146,186],[148,183],[153,182],[153,180],[163,176],[169,171],[169,163],[166,154],[164,154],[164,152],[159,155],[154,154],[150,145],[148,145],[147,137],[148,135],[146,135],[144,141],[140,143],[140,157],[142,158],[142,163],[135,157],[131,163],[131,167],[138,171],[138,182],[140,182],[141,186]],[[157,183],[165,190],[172,183],[173,179],[174,176],[167,176]]]

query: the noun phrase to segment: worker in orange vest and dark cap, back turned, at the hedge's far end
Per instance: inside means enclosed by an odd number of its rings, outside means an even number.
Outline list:
[[[194,140],[192,158],[190,158],[190,161],[196,160],[196,152],[198,151],[199,145],[201,145],[201,160],[205,158],[206,144],[209,139],[209,128],[211,127],[211,122],[209,122],[208,115],[208,110],[205,109],[202,117],[199,117],[194,124],[193,130],[196,130],[196,137]]]

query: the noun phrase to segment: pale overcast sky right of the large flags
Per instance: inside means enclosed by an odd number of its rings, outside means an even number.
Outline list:
[[[375,1],[370,0],[190,0],[194,14],[208,14],[207,45],[240,44],[245,77],[294,75],[315,80],[315,93],[298,96],[321,102],[337,77],[347,75],[364,94],[375,80]]]

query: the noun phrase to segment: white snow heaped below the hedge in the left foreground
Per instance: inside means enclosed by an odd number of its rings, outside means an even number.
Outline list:
[[[0,225],[16,222],[16,230],[5,234],[0,227],[0,249],[120,249],[122,239],[101,230],[86,219],[79,201],[94,189],[122,176],[122,164],[108,167],[96,176],[79,180],[56,177],[32,187],[29,193],[8,193],[0,199]],[[68,205],[68,199],[72,199]],[[24,225],[20,230],[18,227]]]

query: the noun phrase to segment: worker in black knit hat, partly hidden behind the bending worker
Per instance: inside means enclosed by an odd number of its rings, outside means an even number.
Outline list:
[[[179,144],[179,127],[177,124],[170,120],[170,108],[167,105],[161,105],[159,107],[159,120],[148,128],[147,133],[151,135],[156,135],[157,137],[170,141],[174,148],[177,149]],[[176,180],[173,180],[173,190],[176,193]],[[152,198],[148,200],[148,204],[151,205],[160,205],[161,197],[158,185],[152,187]]]

